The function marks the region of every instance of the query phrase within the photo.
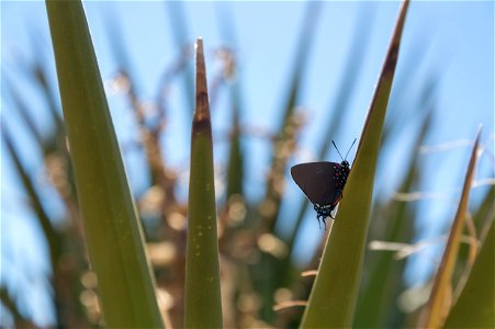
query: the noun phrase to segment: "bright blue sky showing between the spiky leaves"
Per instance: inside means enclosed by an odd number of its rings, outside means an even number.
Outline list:
[[[274,132],[280,118],[280,110],[285,99],[291,67],[294,63],[295,48],[300,38],[301,25],[304,19],[306,2],[183,2],[188,21],[188,38],[193,42],[196,36],[203,36],[206,49],[206,64],[210,80],[215,73],[213,50],[228,45],[224,35],[235,34],[241,81],[243,124]],[[364,115],[370,104],[376,77],[379,75],[392,27],[398,10],[398,2],[391,1],[356,1],[356,2],[323,2],[319,15],[315,19],[315,35],[310,50],[307,69],[303,76],[303,89],[297,105],[307,111],[310,121],[301,136],[302,148],[294,163],[314,159],[322,143],[319,136],[325,132],[324,124],[329,106],[336,97],[339,82],[342,79],[346,59],[357,26],[368,35],[368,46],[364,49],[364,60],[359,72],[355,93],[346,111],[348,112],[344,127],[337,136],[337,144],[346,149],[353,138],[359,137]],[[108,29],[109,22],[121,30],[130,58],[133,73],[138,81],[138,91],[143,99],[153,100],[156,97],[160,77],[179,56],[175,46],[170,5],[164,2],[132,1],[88,1],[85,2],[89,26],[104,79],[110,79],[116,71],[119,63],[110,47],[110,38],[114,37]],[[222,16],[220,13],[227,13]],[[360,20],[358,24],[358,20]],[[228,31],[222,31],[222,24],[232,22]],[[491,155],[482,156],[480,160],[480,178],[493,177],[494,148],[494,3],[492,1],[420,1],[413,2],[408,12],[405,32],[397,67],[397,80],[405,81],[405,104],[394,107],[400,120],[401,134],[397,140],[386,150],[381,163],[386,166],[387,175],[379,182],[382,193],[394,191],[401,178],[404,158],[404,145],[412,140],[417,128],[414,106],[421,83],[427,77],[437,77],[437,102],[435,109],[434,131],[428,136],[428,144],[436,145],[452,140],[472,139],[476,127],[483,123],[482,143],[488,147]],[[50,124],[46,109],[41,104],[41,95],[30,87],[22,65],[41,60],[52,70],[50,79],[55,82],[55,70],[50,48],[49,31],[45,7],[40,1],[2,1],[1,2],[1,71],[2,124],[20,127],[16,113],[11,113],[12,98],[3,88],[5,77],[21,87],[29,100],[33,115],[36,115],[40,129],[48,132]],[[230,45],[232,46],[232,45]],[[414,67],[408,67],[414,65]],[[402,71],[412,72],[402,76]],[[414,77],[412,81],[408,78]],[[407,83],[406,83],[407,82]],[[177,83],[176,83],[177,84]],[[394,89],[395,91],[395,89]],[[394,97],[394,91],[393,95]],[[182,90],[172,87],[170,97],[170,131],[164,139],[164,148],[173,166],[180,168],[188,163],[189,126],[187,117],[189,110],[183,101]],[[110,97],[109,102],[117,126],[117,134],[126,138],[130,131],[130,117],[125,113],[122,100]],[[228,128],[228,111],[225,93],[220,95],[218,106],[214,112],[214,134]],[[120,107],[121,106],[121,107]],[[185,111],[184,111],[185,109]],[[124,112],[122,112],[124,111]],[[333,110],[335,111],[335,110]],[[404,115],[401,114],[404,111]],[[402,115],[402,116],[401,116]],[[215,117],[216,116],[216,117]],[[20,127],[21,128],[21,127]],[[132,131],[132,129],[131,129]],[[178,138],[177,136],[184,136]],[[327,141],[329,143],[329,141]],[[23,146],[23,157],[32,157],[33,143],[22,133],[16,140]],[[2,145],[3,147],[3,145]],[[261,183],[270,158],[268,144],[260,140],[248,140],[246,147],[256,152],[257,157],[248,159],[247,192],[252,197],[260,197],[257,182]],[[461,174],[468,163],[468,147],[461,147],[441,154],[418,155],[424,162],[424,170],[429,179],[424,183],[424,191],[448,193],[446,200],[424,201],[420,203],[421,220],[419,228],[425,237],[438,236],[446,229],[447,222],[453,216],[452,203],[458,194],[452,193],[460,188]],[[2,156],[4,155],[2,150]],[[258,156],[259,155],[259,156]],[[225,147],[215,147],[218,163],[225,163]],[[353,157],[353,155],[352,155]],[[326,160],[336,161],[335,151],[327,155]],[[139,191],[145,182],[139,179],[132,157],[126,158],[132,186]],[[40,160],[30,162],[34,175],[41,173]],[[9,159],[2,161],[2,282],[14,276],[16,270],[5,265],[5,254],[20,254],[25,262],[20,266],[35,264],[34,272],[43,273],[47,266],[40,261],[37,227],[20,200],[23,198],[18,178]],[[42,183],[43,184],[43,183]],[[473,198],[479,200],[484,189],[473,190]],[[54,192],[53,192],[54,193]],[[288,183],[285,205],[300,200],[301,192],[292,181]],[[48,200],[49,197],[47,197]],[[15,203],[18,202],[18,204]],[[8,203],[8,205],[5,205]],[[60,204],[49,207],[60,212]],[[290,212],[289,206],[284,212]],[[300,247],[296,257],[305,258],[314,248],[316,239],[311,236],[317,229],[314,214],[307,214],[306,224],[302,227],[299,239]],[[15,220],[14,220],[15,219]],[[290,227],[291,224],[288,224]],[[279,227],[283,234],[284,227]],[[33,243],[15,247],[16,234],[25,232]],[[7,250],[14,250],[9,252]],[[434,250],[435,252],[435,250]],[[438,252],[438,251],[437,251]],[[18,256],[15,257],[18,258]],[[427,261],[429,262],[429,261]],[[4,269],[9,266],[9,270]],[[429,273],[429,263],[417,260],[408,273],[409,282],[421,281]],[[10,272],[9,272],[10,271]],[[43,283],[38,283],[43,285]],[[40,286],[38,286],[40,288]],[[40,298],[43,294],[40,294]],[[37,317],[43,318],[43,314]],[[43,319],[47,321],[46,318]]]

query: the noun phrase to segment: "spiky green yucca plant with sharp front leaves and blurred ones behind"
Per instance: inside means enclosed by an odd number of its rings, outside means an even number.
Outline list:
[[[272,157],[261,200],[249,200],[245,193],[245,159],[252,155],[244,147],[249,133],[240,118],[241,111],[245,111],[243,90],[236,82],[232,86],[226,83],[236,67],[235,54],[223,49],[222,70],[213,79],[216,83],[209,88],[207,61],[203,41],[199,38],[195,43],[194,94],[188,75],[189,60],[184,59],[192,57],[188,47],[173,69],[167,72],[157,98],[158,107],[166,107],[162,91],[180,75],[185,77],[190,104],[195,103],[190,116],[189,198],[183,202],[177,192],[177,170],[168,164],[169,155],[160,147],[160,136],[167,133],[162,128],[165,112],[150,117],[139,100],[133,71],[124,67],[113,84],[123,91],[134,110],[139,149],[146,160],[143,175],[149,180],[146,192],[132,195],[123,164],[128,146],[120,147],[115,136],[82,4],[80,1],[48,0],[46,8],[64,123],[43,78],[43,69],[38,67],[34,70],[36,81],[54,110],[56,132],[44,139],[37,134],[30,115],[22,117],[43,150],[50,181],[69,209],[70,226],[58,228],[46,214],[40,193],[12,140],[13,131],[2,127],[2,139],[49,246],[57,326],[493,327],[494,189],[472,218],[466,215],[480,133],[445,257],[420,316],[419,313],[405,314],[395,304],[405,288],[402,282],[404,263],[365,249],[370,242],[373,249],[390,250],[396,245],[386,243],[393,241],[402,242],[395,250],[404,252],[412,243],[412,223],[403,219],[414,217],[415,207],[410,203],[383,201],[373,195],[379,155],[382,145],[386,145],[390,134],[393,134],[394,123],[386,121],[386,112],[391,107],[389,100],[396,64],[403,56],[400,46],[403,30],[407,30],[408,4],[405,1],[400,10],[337,219],[331,228],[328,227],[327,235],[322,235],[320,248],[306,269],[310,271],[304,272],[305,276],[316,276],[314,283],[310,283],[299,275],[303,269],[291,257],[307,201],[301,202],[299,212],[295,212],[296,224],[289,236],[279,234],[277,225],[282,219],[288,167],[304,127],[302,114],[295,105],[301,94],[307,50],[313,42],[306,36],[313,35],[318,4],[308,4],[294,73],[281,111],[281,125],[274,136],[267,138]],[[180,3],[173,5],[180,10]],[[183,46],[182,29],[187,23],[181,18],[175,16],[172,27],[178,30],[178,45]],[[362,44],[357,42],[352,47],[353,55],[359,53],[359,46]],[[123,47],[116,52],[121,59],[128,58],[124,52]],[[352,57],[349,59],[344,87],[336,102],[342,110],[331,116],[328,134],[335,134],[346,116],[350,90],[359,75],[359,71],[353,71],[359,67],[356,63]],[[426,99],[431,89],[425,89]],[[226,181],[227,188],[223,197],[217,197],[215,180],[218,177],[215,177],[213,150],[218,139],[212,133],[215,113],[211,107],[214,95],[222,91],[229,92],[233,105],[226,174],[220,178]],[[16,99],[18,110],[24,113],[21,98]],[[421,120],[421,131],[410,151],[413,158],[431,127],[431,113],[426,113]],[[189,132],[185,135],[189,136]],[[331,139],[331,135],[325,138]],[[326,148],[327,145],[323,146],[320,158],[325,157]],[[69,159],[71,164],[68,164]],[[412,191],[420,179],[416,160],[410,160],[406,172],[401,184],[404,192]],[[470,230],[468,250],[460,246],[463,223],[475,227]],[[382,245],[379,243],[382,247],[376,247],[376,240],[383,240]],[[63,260],[69,256],[72,263],[67,266],[66,262],[64,266]],[[81,282],[82,286],[76,282]],[[450,291],[455,292],[452,298],[449,297]],[[77,300],[78,296],[82,303]],[[2,287],[0,297],[19,327],[33,325],[20,311],[8,290]],[[453,302],[446,304],[446,300]]]

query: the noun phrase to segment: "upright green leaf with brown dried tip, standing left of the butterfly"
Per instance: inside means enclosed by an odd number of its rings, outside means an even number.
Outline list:
[[[189,180],[184,326],[222,328],[212,125],[201,38],[196,42],[195,95]]]

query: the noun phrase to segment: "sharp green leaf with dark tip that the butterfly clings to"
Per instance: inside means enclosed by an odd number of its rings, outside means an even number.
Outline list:
[[[325,246],[318,275],[303,316],[303,328],[342,328],[352,324],[373,178],[407,7],[408,1],[405,1],[368,113],[356,161],[344,190],[338,218]]]

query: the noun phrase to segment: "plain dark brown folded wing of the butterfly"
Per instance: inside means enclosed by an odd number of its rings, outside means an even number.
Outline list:
[[[334,204],[340,191],[335,184],[335,162],[307,162],[291,168],[291,175],[295,183],[313,204]]]

